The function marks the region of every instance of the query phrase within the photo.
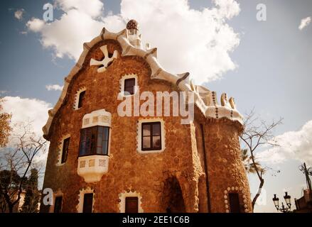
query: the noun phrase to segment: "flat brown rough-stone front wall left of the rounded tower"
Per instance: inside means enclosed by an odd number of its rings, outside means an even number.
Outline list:
[[[163,153],[140,154],[136,151],[139,117],[119,117],[117,114],[117,106],[121,102],[117,100],[119,79],[124,74],[138,75],[140,92],[145,90],[156,94],[158,91],[178,90],[168,82],[151,80],[149,65],[139,57],[119,56],[105,72],[97,73],[97,67],[89,66],[90,58],[101,60],[103,55],[99,47],[105,44],[109,52],[120,52],[120,46],[112,40],[102,41],[92,48],[83,69],[70,84],[65,103],[55,115],[48,136],[50,148],[43,188],[63,192],[63,212],[76,212],[80,189],[85,187],[95,191],[94,212],[119,212],[119,194],[130,191],[141,194],[144,212],[166,212],[161,205],[165,182],[170,177],[176,177],[183,193],[185,211],[197,211],[190,125],[181,125],[179,117],[163,117],[166,150]],[[74,110],[75,93],[82,87],[87,89],[84,104],[81,109]],[[82,117],[98,109],[112,114],[109,167],[100,182],[87,184],[77,175],[80,128]],[[61,138],[67,134],[70,134],[68,159],[65,165],[56,166]],[[41,211],[47,212],[48,206],[42,205]]]

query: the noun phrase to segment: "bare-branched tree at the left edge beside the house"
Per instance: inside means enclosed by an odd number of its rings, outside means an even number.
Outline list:
[[[21,133],[12,136],[9,145],[0,152],[0,198],[9,212],[21,199],[29,170],[36,166],[36,157],[45,151],[47,141],[31,133],[31,123],[19,125]]]

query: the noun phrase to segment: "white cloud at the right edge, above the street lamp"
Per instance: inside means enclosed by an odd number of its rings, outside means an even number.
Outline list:
[[[257,157],[268,163],[298,160],[312,165],[312,121],[308,121],[299,131],[289,131],[276,136],[279,147],[264,150]]]

